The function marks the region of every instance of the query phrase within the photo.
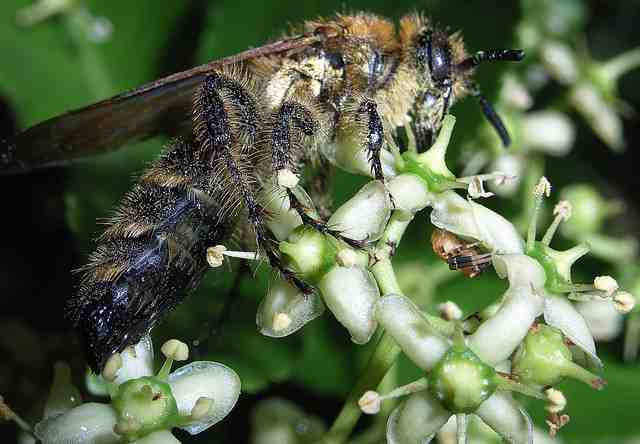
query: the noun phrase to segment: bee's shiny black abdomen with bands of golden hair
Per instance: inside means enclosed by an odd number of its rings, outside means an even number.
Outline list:
[[[95,371],[135,344],[207,270],[206,248],[227,237],[210,167],[178,142],[125,196],[83,271],[70,317]],[[161,180],[162,179],[162,180]]]

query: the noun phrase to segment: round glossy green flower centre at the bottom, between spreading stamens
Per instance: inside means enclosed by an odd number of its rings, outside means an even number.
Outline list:
[[[498,386],[493,368],[466,347],[454,345],[428,376],[429,391],[453,413],[474,412]]]

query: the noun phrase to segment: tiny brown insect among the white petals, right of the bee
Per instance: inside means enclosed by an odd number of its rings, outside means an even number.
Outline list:
[[[460,270],[470,278],[491,265],[491,254],[480,252],[477,242],[468,244],[449,231],[435,228],[431,234],[431,247],[451,270]]]

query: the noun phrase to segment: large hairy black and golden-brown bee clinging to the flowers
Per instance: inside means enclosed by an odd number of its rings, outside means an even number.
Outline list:
[[[158,133],[182,136],[124,197],[69,300],[87,361],[99,370],[199,285],[208,246],[247,227],[250,242],[275,270],[312,291],[280,261],[258,199],[267,184],[285,173],[306,173],[302,184],[319,198],[329,171],[322,148],[347,144],[356,144],[371,176],[384,180],[381,154],[403,127],[428,147],[450,107],[465,96],[479,100],[508,145],[473,73],[483,62],[523,56],[520,50],[470,55],[459,33],[450,35],[419,14],[397,28],[368,13],[307,21],[292,36],[27,129],[0,143],[0,170],[64,165]],[[305,224],[330,231],[296,194],[286,193]],[[467,270],[459,263],[466,257],[454,256],[453,263]]]

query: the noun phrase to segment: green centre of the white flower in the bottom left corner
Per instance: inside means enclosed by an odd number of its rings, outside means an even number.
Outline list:
[[[116,433],[135,441],[179,423],[178,407],[168,383],[153,376],[132,379],[118,387],[112,406],[118,413]]]

